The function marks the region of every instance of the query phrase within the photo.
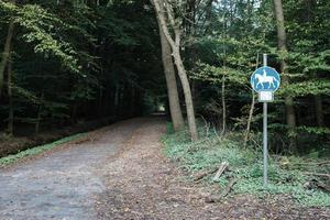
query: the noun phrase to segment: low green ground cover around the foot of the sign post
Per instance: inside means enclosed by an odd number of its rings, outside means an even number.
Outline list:
[[[169,130],[168,130],[169,131]],[[218,167],[221,162],[228,162],[230,172],[224,173],[219,180],[213,182],[213,175],[204,178],[206,184],[219,184],[224,188],[230,178],[237,178],[231,194],[252,194],[258,197],[272,195],[286,195],[299,205],[307,207],[330,207],[330,194],[312,187],[316,177],[306,175],[305,172],[315,172],[319,167],[317,160],[302,157],[270,157],[270,185],[263,187],[263,158],[262,148],[242,147],[238,134],[231,133],[219,140],[219,136],[200,132],[200,140],[191,143],[187,132],[167,132],[163,138],[165,154],[191,174]],[[308,162],[308,166],[304,166]],[[315,164],[315,165],[312,165]],[[329,172],[329,166],[326,167]],[[327,180],[327,179],[326,179]],[[329,179],[328,179],[329,180]],[[309,183],[310,187],[307,187]],[[328,184],[326,182],[326,184]]]

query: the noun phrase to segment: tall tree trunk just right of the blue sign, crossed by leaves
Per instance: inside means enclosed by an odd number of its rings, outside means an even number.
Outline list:
[[[284,25],[284,15],[283,15],[283,6],[282,0],[274,0],[274,7],[275,7],[275,16],[277,22],[277,37],[278,37],[278,50],[282,53],[287,52],[286,46],[286,32],[285,32],[285,25]],[[288,85],[289,78],[287,76],[287,63],[283,58],[280,62],[280,72],[283,73],[283,84]],[[297,143],[296,138],[294,135],[295,129],[296,129],[296,116],[295,116],[295,102],[293,97],[286,96],[285,97],[285,107],[286,107],[286,123],[289,128],[289,135],[290,135],[290,150],[293,152],[297,152]]]

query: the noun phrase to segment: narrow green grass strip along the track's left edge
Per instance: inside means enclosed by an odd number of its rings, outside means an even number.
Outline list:
[[[33,155],[37,155],[37,154],[41,154],[41,153],[46,152],[46,151],[51,151],[51,150],[55,148],[56,146],[58,146],[61,144],[77,140],[77,139],[79,139],[80,136],[84,136],[84,135],[85,135],[84,133],[70,135],[70,136],[61,139],[58,141],[55,141],[55,142],[52,142],[52,143],[48,143],[48,144],[35,146],[35,147],[22,151],[18,154],[13,154],[13,155],[2,157],[2,158],[0,158],[0,167],[13,164],[13,163],[15,163],[15,162],[18,162],[22,158],[25,158],[28,156],[33,156]]]

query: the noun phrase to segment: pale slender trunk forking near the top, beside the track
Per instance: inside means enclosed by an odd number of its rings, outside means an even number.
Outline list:
[[[188,125],[189,125],[189,133],[191,141],[197,141],[198,140],[198,134],[197,134],[197,128],[196,128],[196,119],[195,119],[195,111],[194,111],[194,103],[193,103],[193,97],[191,97],[191,90],[190,90],[190,85],[187,76],[187,72],[184,66],[184,62],[182,59],[180,55],[180,28],[178,26],[179,24],[176,24],[174,21],[174,14],[173,10],[170,9],[170,4],[161,1],[161,0],[152,0],[154,7],[155,7],[155,12],[160,22],[160,26],[166,36],[167,42],[170,45],[173,57],[175,61],[175,65],[177,67],[178,76],[184,89],[184,96],[185,96],[185,102],[186,102],[186,109],[187,109],[187,118],[188,118]],[[167,13],[167,19],[165,16],[165,10]],[[169,20],[169,21],[168,21]],[[170,36],[170,33],[168,31],[167,25],[170,24],[172,28],[174,29],[174,38]]]

